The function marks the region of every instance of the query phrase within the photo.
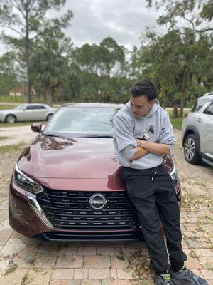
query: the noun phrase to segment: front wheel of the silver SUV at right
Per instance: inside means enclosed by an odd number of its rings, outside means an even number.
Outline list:
[[[187,135],[184,142],[184,156],[185,160],[192,165],[200,162],[200,155],[198,154],[197,139],[194,134]]]

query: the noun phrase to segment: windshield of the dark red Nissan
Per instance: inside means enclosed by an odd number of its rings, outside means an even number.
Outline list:
[[[112,137],[114,115],[119,108],[64,106],[53,116],[44,135],[62,137]]]

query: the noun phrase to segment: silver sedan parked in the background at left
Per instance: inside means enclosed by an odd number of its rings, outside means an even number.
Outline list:
[[[0,111],[0,122],[16,123],[35,120],[50,120],[55,108],[45,104],[21,104],[11,110]]]

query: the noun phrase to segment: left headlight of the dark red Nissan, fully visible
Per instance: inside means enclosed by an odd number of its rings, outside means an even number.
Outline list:
[[[18,165],[16,164],[14,172],[13,172],[13,180],[18,187],[23,188],[33,194],[39,194],[43,192],[42,187],[33,181],[30,177],[27,177],[21,170],[18,169]]]

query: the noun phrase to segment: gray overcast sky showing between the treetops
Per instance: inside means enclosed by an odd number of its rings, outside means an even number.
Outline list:
[[[156,19],[160,15],[146,8],[145,0],[67,0],[60,12],[51,11],[51,16],[60,16],[67,9],[72,10],[74,17],[65,33],[72,38],[74,46],[99,43],[111,36],[131,49],[139,46],[139,36],[146,26],[157,26]],[[156,30],[163,33],[163,28]],[[1,46],[0,53],[5,51]]]

